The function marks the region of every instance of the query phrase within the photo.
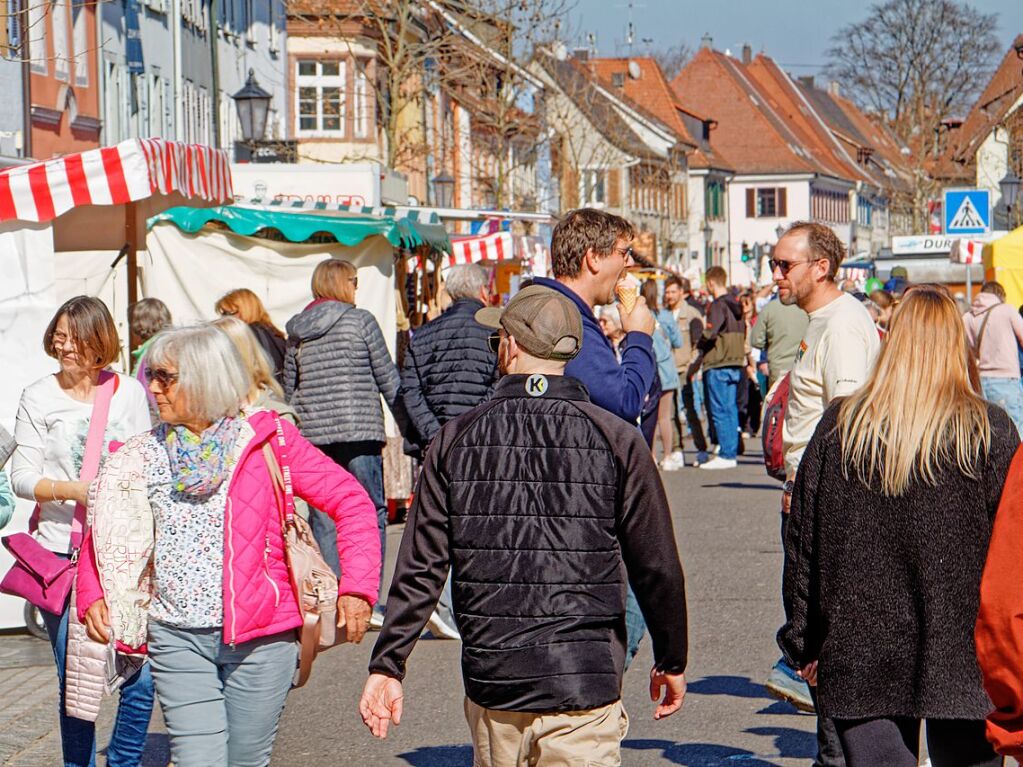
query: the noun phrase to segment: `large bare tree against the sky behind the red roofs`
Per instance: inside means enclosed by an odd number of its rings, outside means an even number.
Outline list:
[[[937,189],[927,164],[942,122],[963,115],[987,82],[998,50],[996,17],[960,0],[886,0],[832,38],[826,72],[902,142],[910,155],[914,227]]]

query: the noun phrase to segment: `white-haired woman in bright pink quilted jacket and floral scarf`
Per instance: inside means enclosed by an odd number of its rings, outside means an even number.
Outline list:
[[[337,525],[339,625],[356,642],[379,587],[375,508],[292,424],[241,411],[249,373],[221,330],[165,331],[146,362],[165,422],[130,439],[91,489],[79,612],[93,639],[147,642],[175,765],[266,765],[302,618],[263,445],[280,423],[296,495]]]

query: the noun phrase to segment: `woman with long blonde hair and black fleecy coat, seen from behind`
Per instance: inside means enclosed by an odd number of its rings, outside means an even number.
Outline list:
[[[861,389],[825,413],[785,541],[786,660],[849,767],[1000,764],[974,644],[1015,426],[985,402],[955,302],[908,289]]]

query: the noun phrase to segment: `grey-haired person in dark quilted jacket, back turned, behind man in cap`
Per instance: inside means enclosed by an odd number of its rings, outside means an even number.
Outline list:
[[[490,328],[476,321],[489,296],[490,275],[479,264],[453,266],[445,286],[453,303],[412,333],[401,368],[401,402],[411,428],[406,452],[421,455],[457,415],[483,402],[497,380]]]

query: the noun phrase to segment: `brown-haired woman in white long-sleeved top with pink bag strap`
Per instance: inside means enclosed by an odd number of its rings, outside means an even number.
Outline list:
[[[43,349],[60,370],[37,380],[21,394],[14,438],[17,452],[11,462],[11,483],[20,498],[35,500],[36,539],[62,556],[71,553],[72,520],[76,503],[88,500],[88,483],[79,481],[86,437],[99,373],[118,358],[118,330],[106,306],[98,299],[79,296],[61,306],[43,336]],[[112,441],[151,427],[142,386],[117,375],[103,437],[103,453]],[[60,684],[60,736],[64,765],[95,765],[95,725],[64,713],[63,678],[68,644],[68,605],[60,615],[42,611],[53,645]],[[142,758],[152,712],[152,680],[148,665],[121,689],[117,723],[106,753],[110,767],[135,767]]]

